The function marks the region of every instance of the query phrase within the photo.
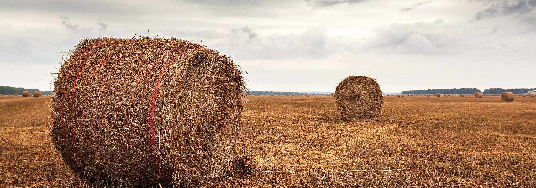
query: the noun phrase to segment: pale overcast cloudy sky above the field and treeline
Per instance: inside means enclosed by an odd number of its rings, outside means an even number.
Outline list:
[[[81,39],[176,37],[231,56],[254,91],[536,87],[536,0],[0,2],[0,85],[50,90]],[[58,52],[59,51],[59,52]]]

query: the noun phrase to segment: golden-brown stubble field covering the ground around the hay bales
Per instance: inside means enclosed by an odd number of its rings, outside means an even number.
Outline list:
[[[205,187],[536,187],[536,97],[384,96],[362,122],[342,121],[332,96],[246,100],[249,172]],[[0,96],[0,187],[96,186],[63,166],[49,103]]]

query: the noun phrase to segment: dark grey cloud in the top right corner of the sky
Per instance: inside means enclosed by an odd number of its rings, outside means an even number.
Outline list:
[[[510,3],[504,1],[500,3],[493,3],[488,9],[478,12],[473,20],[481,20],[489,17],[507,16],[511,14],[525,14],[529,13],[536,7],[536,0],[522,0]]]

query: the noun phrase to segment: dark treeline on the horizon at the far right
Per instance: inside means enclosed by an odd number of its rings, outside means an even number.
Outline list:
[[[401,94],[415,94],[415,95],[422,95],[422,94],[474,94],[474,93],[482,93],[482,94],[496,94],[500,95],[503,92],[512,92],[513,94],[525,94],[529,90],[535,90],[530,88],[518,88],[518,89],[503,89],[503,88],[489,88],[484,89],[484,92],[481,92],[480,89],[477,88],[459,88],[459,89],[421,89],[421,90],[411,90],[411,91],[403,91]]]

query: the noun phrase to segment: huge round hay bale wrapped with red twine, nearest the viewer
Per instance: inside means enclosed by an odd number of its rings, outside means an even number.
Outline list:
[[[52,139],[87,181],[188,185],[234,173],[244,82],[217,51],[178,39],[85,39],[54,86]]]

